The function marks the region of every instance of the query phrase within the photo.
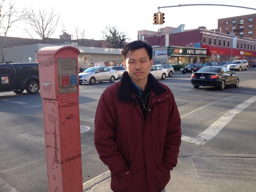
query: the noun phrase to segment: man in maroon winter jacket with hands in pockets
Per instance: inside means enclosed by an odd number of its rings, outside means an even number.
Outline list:
[[[94,142],[114,192],[161,192],[177,164],[180,115],[171,90],[150,74],[152,47],[122,50],[126,72],[101,95]]]

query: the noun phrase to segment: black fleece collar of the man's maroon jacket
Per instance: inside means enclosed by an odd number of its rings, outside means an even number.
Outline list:
[[[161,95],[167,90],[158,83],[156,78],[149,73],[148,78],[150,78],[150,82],[152,83],[152,91],[155,95]],[[132,101],[134,98],[132,97],[132,89],[130,87],[130,76],[127,71],[125,71],[121,78],[121,84],[117,91],[117,97],[121,101]]]

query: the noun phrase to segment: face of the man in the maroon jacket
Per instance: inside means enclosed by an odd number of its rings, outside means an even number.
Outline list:
[[[152,64],[153,60],[149,60],[145,48],[136,49],[132,54],[127,54],[124,61],[124,67],[134,83],[147,80]]]

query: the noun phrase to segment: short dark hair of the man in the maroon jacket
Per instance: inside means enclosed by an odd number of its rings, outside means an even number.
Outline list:
[[[126,61],[127,54],[132,54],[132,52],[134,50],[141,49],[141,48],[146,49],[148,56],[149,56],[149,60],[151,60],[153,57],[153,49],[150,44],[148,44],[144,41],[133,41],[133,42],[125,45],[124,49],[121,52],[121,56],[122,56],[123,60]]]

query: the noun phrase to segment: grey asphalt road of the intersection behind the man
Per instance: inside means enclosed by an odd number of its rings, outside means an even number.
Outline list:
[[[191,74],[175,72],[159,80],[172,90],[181,116],[182,135],[196,138],[216,121],[221,121],[237,105],[256,95],[256,68],[237,71],[239,87],[220,91],[212,87],[193,88]],[[91,129],[81,133],[83,182],[108,171],[93,143],[94,115],[101,93],[109,82],[80,87],[80,124]],[[251,99],[252,100],[252,99]],[[237,113],[205,145],[183,141],[180,156],[207,154],[256,154],[256,102]],[[225,115],[225,116],[226,116]],[[0,93],[0,191],[46,192],[42,100],[40,94]],[[2,188],[1,188],[2,187]],[[6,190],[6,189],[5,189]],[[6,191],[8,191],[6,190]],[[3,190],[4,191],[4,190]]]

